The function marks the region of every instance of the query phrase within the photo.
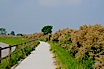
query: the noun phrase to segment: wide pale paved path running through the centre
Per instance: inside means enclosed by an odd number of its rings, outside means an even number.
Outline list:
[[[40,42],[39,46],[15,69],[55,69],[48,43]]]

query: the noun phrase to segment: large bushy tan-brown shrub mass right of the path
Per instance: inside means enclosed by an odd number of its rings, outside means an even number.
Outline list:
[[[60,43],[78,60],[92,59],[96,69],[104,68],[104,27],[83,25],[79,30],[63,29],[52,35],[51,41]]]

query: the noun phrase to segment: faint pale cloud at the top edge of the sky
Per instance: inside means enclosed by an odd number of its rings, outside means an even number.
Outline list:
[[[42,6],[57,6],[62,4],[78,5],[82,0],[37,0]]]

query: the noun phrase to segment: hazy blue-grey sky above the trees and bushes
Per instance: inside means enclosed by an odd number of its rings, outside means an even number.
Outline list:
[[[104,0],[0,0],[0,27],[8,33],[41,32],[46,25],[55,32],[85,24],[104,26]]]

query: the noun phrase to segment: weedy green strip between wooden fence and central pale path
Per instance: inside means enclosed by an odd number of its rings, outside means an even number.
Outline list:
[[[0,69],[11,69],[12,66],[18,64],[18,61],[25,59],[31,51],[35,50],[38,41],[35,41],[33,44],[31,42],[26,45],[20,45],[17,49],[12,52],[11,58],[5,58],[1,61]]]

